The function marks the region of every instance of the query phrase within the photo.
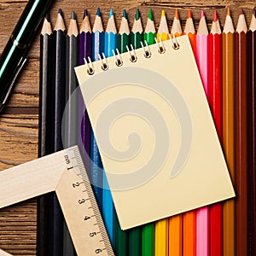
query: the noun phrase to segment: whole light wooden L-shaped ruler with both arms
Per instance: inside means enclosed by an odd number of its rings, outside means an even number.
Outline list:
[[[114,255],[78,146],[0,172],[0,208],[51,191],[78,255]]]

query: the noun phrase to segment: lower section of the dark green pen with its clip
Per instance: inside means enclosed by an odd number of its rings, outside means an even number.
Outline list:
[[[13,81],[26,61],[23,58],[25,54],[26,49],[17,48],[9,39],[0,58],[0,108],[3,107],[2,104],[5,103],[9,95]]]

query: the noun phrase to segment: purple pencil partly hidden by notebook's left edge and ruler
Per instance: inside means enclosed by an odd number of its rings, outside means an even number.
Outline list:
[[[79,65],[84,64],[84,58],[91,58],[91,28],[87,10],[84,10],[84,18],[79,31]],[[90,120],[84,106],[84,98],[79,91],[79,149],[84,159],[86,170],[90,170]],[[89,177],[90,177],[90,173]]]

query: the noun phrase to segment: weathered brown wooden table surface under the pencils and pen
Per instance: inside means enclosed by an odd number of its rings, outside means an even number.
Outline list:
[[[0,52],[3,51],[11,32],[13,31],[27,1],[0,0]],[[93,21],[96,7],[101,7],[103,22],[106,25],[108,11],[113,8],[119,27],[121,10],[127,9],[130,24],[137,8],[143,15],[145,26],[148,9],[153,8],[156,26],[159,25],[160,11],[166,10],[169,26],[175,8],[179,9],[182,26],[185,25],[187,10],[192,9],[195,26],[198,26],[201,9],[206,11],[208,25],[212,23],[213,10],[218,9],[221,26],[224,26],[226,8],[230,6],[233,20],[236,24],[239,9],[246,12],[247,23],[251,20],[255,0],[190,0],[190,1],[162,1],[162,0],[131,0],[131,1],[54,1],[50,9],[52,24],[55,23],[57,9],[61,8],[65,15],[66,24],[74,10],[81,23],[83,10],[88,9],[90,20]],[[9,104],[0,115],[0,170],[19,165],[37,158],[38,154],[38,90],[39,90],[39,32],[28,53],[29,61],[15,84]],[[32,199],[0,211],[0,248],[14,255],[36,255],[37,230],[37,201]]]

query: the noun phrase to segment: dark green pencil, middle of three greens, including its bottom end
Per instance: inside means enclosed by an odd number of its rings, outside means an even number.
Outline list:
[[[139,9],[136,10],[135,19],[131,29],[131,45],[134,49],[141,48],[143,42],[143,24]],[[142,227],[129,230],[129,255],[141,256],[142,254]]]

